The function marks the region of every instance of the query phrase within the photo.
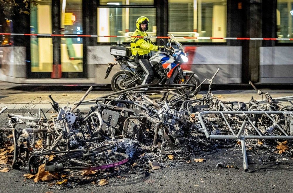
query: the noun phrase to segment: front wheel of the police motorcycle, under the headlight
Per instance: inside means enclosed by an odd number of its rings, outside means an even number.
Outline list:
[[[192,77],[191,77],[192,73],[187,73],[185,75],[185,79],[186,81],[191,78],[191,80],[188,82],[188,84],[194,84],[195,86],[194,87],[190,87],[190,88],[185,88],[185,93],[188,95],[188,97],[194,97],[195,95],[197,95],[197,93],[200,91],[200,87],[201,86],[198,86],[200,85],[200,79],[198,78],[198,76],[196,74],[194,74]],[[175,78],[175,83],[177,84],[184,84],[184,82],[181,81],[181,78],[180,76],[178,75],[176,78]],[[182,95],[185,95],[185,93],[183,93],[182,90],[178,90],[178,92]]]

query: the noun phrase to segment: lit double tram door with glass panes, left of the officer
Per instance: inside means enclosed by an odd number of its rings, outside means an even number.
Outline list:
[[[60,32],[57,34],[82,34],[82,0],[60,1]],[[31,8],[30,33],[52,34],[52,0],[38,2]],[[28,78],[86,78],[81,37],[62,37],[54,45],[52,37],[30,37],[30,66]],[[59,54],[54,55],[54,52]],[[53,57],[60,64],[54,64]]]

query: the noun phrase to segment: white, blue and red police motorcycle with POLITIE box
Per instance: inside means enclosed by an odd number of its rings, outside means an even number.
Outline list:
[[[154,70],[154,79],[151,83],[185,84],[187,82],[193,84],[194,87],[185,89],[185,92],[192,97],[200,91],[200,80],[193,71],[181,69],[180,65],[188,62],[187,54],[173,35],[168,34],[168,36],[170,39],[164,50],[156,52],[149,58]],[[161,39],[161,42],[163,43],[164,40]],[[117,41],[116,45],[110,47],[110,52],[115,57],[116,63],[108,64],[105,79],[108,78],[113,66],[120,65],[122,67],[122,70],[112,77],[113,91],[117,92],[141,85],[145,72],[139,65],[137,57],[131,55],[131,48],[123,45],[121,41]]]

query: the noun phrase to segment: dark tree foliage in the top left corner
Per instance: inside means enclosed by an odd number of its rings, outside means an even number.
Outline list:
[[[37,0],[0,0],[0,7],[6,16],[14,15],[15,12],[30,14],[30,5],[37,6],[37,2]]]

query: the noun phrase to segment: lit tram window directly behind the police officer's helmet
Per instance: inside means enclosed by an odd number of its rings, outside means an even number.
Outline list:
[[[97,8],[98,35],[131,36],[139,16],[149,18],[148,36],[156,36],[156,8]],[[155,42],[156,38],[150,38]],[[98,37],[98,42],[130,42],[127,37]]]

